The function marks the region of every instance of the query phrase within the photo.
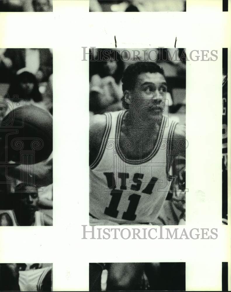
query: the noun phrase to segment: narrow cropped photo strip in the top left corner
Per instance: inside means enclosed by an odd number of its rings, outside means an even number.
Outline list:
[[[1,0],[0,12],[52,12],[53,0]]]

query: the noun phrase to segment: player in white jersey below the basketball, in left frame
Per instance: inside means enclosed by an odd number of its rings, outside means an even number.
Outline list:
[[[1,211],[0,226],[52,225],[52,219],[39,211],[39,196],[36,187],[21,187],[21,192],[15,192],[9,196],[13,210]]]

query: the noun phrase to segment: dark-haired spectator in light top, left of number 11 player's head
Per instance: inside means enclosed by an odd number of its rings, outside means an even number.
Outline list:
[[[122,109],[124,63],[117,50],[98,49],[100,61],[90,61],[89,109],[94,114]],[[103,60],[102,56],[107,55]]]

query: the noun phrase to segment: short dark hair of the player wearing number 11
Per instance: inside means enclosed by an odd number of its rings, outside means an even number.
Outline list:
[[[123,91],[131,90],[136,84],[136,78],[141,73],[160,73],[164,76],[164,70],[154,62],[135,62],[129,65],[122,77]]]

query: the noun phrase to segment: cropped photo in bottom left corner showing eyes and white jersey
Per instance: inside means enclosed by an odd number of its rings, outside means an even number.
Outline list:
[[[0,291],[53,291],[52,264],[0,263]]]

